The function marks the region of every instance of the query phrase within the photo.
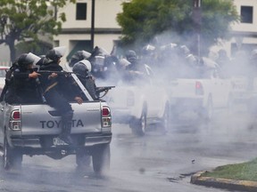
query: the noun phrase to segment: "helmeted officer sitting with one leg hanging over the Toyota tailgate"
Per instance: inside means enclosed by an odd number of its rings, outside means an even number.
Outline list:
[[[63,55],[64,47],[55,47],[54,49],[46,53],[46,60],[40,67],[40,70],[47,71],[62,71],[62,67],[59,65]],[[83,100],[77,96],[72,95],[73,92],[71,84],[69,84],[67,76],[57,75],[56,73],[43,73],[40,76],[40,82],[43,86],[44,96],[46,98],[47,104],[51,107],[56,108],[62,116],[62,132],[59,138],[66,142],[67,144],[72,144],[72,139],[70,137],[71,123],[73,117],[73,110],[70,106],[69,100],[63,96],[63,92],[69,92],[71,97],[76,100],[79,104]]]

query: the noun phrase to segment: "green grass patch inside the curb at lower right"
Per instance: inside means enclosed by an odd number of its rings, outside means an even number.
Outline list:
[[[230,180],[257,181],[257,158],[243,164],[228,164],[219,166],[212,172],[204,172],[202,176]]]

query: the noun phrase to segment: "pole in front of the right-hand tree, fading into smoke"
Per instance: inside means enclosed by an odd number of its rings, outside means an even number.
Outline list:
[[[195,43],[197,44],[196,52],[198,58],[201,57],[201,24],[202,24],[202,16],[201,16],[201,0],[193,0],[193,21],[195,24]]]

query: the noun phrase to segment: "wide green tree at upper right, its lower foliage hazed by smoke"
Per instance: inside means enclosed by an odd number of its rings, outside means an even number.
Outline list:
[[[203,0],[197,23],[194,0],[132,0],[123,3],[117,21],[122,28],[124,45],[172,43],[195,46],[195,33],[200,32],[202,50],[229,38],[230,23],[239,20],[232,0]],[[201,15],[201,16],[200,16]],[[156,37],[157,36],[157,37]],[[171,43],[170,42],[170,43]],[[169,43],[169,42],[168,42]]]

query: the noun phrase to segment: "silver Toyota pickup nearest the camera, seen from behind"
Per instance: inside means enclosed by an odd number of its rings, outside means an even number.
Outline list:
[[[85,88],[84,92],[87,92]],[[23,155],[45,155],[54,159],[76,155],[79,167],[87,165],[88,156],[92,156],[96,173],[108,169],[112,140],[110,108],[104,100],[87,100],[81,105],[70,101],[70,105],[74,110],[71,128],[73,145],[67,145],[58,139],[61,132],[61,115],[55,108],[51,108],[43,101],[10,105],[2,100],[1,168],[9,170],[12,167],[21,167]]]

